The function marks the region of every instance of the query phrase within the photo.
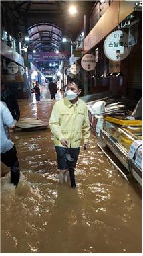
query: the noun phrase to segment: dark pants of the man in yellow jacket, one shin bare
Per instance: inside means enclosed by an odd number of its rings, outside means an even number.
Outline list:
[[[78,160],[78,155],[80,148],[63,148],[62,146],[55,146],[55,151],[57,153],[57,164],[58,169],[65,170],[69,169],[69,175],[72,187],[76,187],[74,168],[76,167],[76,162]],[[69,161],[67,159],[67,153],[71,155],[74,161]]]

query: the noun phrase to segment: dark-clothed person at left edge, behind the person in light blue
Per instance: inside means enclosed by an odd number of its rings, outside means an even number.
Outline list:
[[[1,83],[1,101],[7,104],[7,108],[11,112],[11,115],[15,120],[18,121],[20,117],[20,110],[17,103],[17,98],[4,83]]]

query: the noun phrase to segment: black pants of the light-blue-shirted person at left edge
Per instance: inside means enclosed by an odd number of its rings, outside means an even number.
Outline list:
[[[15,146],[5,153],[1,153],[1,162],[11,167],[11,183],[17,187],[19,183],[20,170],[17,151]]]

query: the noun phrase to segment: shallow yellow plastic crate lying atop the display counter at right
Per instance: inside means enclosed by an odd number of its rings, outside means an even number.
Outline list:
[[[141,120],[120,120],[117,118],[111,118],[110,116],[106,116],[104,119],[108,122],[120,124],[120,126],[142,126]]]

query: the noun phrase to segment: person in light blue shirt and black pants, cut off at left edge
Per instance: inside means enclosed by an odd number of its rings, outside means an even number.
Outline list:
[[[1,162],[11,168],[11,183],[17,187],[20,170],[17,151],[9,137],[8,128],[14,128],[16,121],[4,102],[0,102],[1,120]]]

